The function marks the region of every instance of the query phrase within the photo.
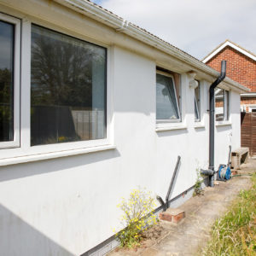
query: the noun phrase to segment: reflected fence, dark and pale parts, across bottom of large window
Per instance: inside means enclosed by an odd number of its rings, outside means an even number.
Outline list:
[[[32,106],[32,145],[77,142],[106,137],[103,110],[67,106]]]

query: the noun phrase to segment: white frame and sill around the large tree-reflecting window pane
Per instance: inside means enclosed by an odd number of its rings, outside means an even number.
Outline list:
[[[8,17],[8,12],[5,12],[4,17]],[[0,166],[5,165],[4,163],[11,164],[12,162],[26,162],[31,160],[40,159],[50,159],[55,157],[73,155],[73,154],[84,154],[89,152],[102,151],[107,149],[113,149],[113,104],[112,104],[112,87],[111,80],[113,79],[112,74],[112,56],[113,47],[108,44],[103,44],[97,40],[91,40],[86,37],[84,33],[75,32],[75,30],[67,30],[64,26],[57,26],[54,23],[49,23],[49,21],[38,20],[36,17],[24,18],[22,14],[15,15],[17,19],[12,19],[10,17],[8,22],[17,22],[21,26],[21,58],[19,61],[15,61],[16,70],[20,71],[17,73],[16,77],[20,76],[20,90],[15,92],[15,112],[19,113],[20,116],[19,124],[20,137],[15,134],[15,138],[18,139],[20,148],[15,148],[14,144],[1,148],[0,154]],[[1,16],[2,17],[2,16]],[[19,20],[20,18],[20,20]],[[22,22],[20,22],[22,20]],[[59,144],[47,144],[32,146],[30,137],[30,111],[31,111],[31,26],[32,24],[38,26],[44,26],[56,32],[61,32],[73,38],[79,38],[91,44],[97,44],[107,49],[107,99],[106,99],[106,114],[107,114],[107,136],[103,139],[89,140],[89,141],[79,141],[70,143],[59,143]],[[17,41],[17,40],[16,40]],[[18,55],[17,55],[18,56]],[[20,63],[19,63],[20,62]],[[17,68],[18,67],[18,68]],[[16,81],[19,81],[16,80]],[[16,85],[17,87],[17,85]],[[16,89],[16,88],[15,88]],[[18,88],[19,89],[19,88]]]

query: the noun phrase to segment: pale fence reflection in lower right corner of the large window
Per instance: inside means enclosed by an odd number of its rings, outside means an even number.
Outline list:
[[[76,134],[81,140],[105,137],[103,110],[72,110],[72,116]]]

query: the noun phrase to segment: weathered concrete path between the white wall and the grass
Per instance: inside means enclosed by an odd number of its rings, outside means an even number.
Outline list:
[[[256,160],[250,160],[245,167],[247,170],[243,169],[241,173],[255,172]],[[241,189],[248,189],[251,185],[248,176],[233,177],[226,183],[218,183],[214,188],[204,189],[204,195],[195,196],[179,207],[186,213],[186,218],[181,223],[175,225],[161,221],[155,229],[160,232],[157,239],[148,240],[143,247],[135,250],[121,249],[108,255],[195,255],[201,247],[206,246],[214,220],[224,214]]]

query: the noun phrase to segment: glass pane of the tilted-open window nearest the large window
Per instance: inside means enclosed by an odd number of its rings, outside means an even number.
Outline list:
[[[172,78],[156,74],[156,119],[179,119]]]

